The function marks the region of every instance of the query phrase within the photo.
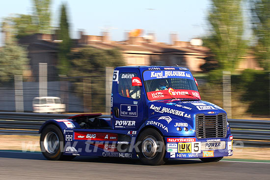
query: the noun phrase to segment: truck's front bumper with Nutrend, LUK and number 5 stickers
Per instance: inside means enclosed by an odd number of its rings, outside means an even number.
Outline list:
[[[165,137],[166,158],[208,158],[233,155],[233,137],[197,139],[195,137]]]

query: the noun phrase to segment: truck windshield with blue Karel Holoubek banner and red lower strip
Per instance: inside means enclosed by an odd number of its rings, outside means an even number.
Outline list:
[[[150,101],[173,98],[201,99],[189,71],[145,71],[143,80],[147,98]]]

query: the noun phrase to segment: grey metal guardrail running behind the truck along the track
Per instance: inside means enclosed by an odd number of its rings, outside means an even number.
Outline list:
[[[0,112],[0,134],[38,135],[38,129],[45,121],[71,116],[74,115]],[[270,147],[270,121],[228,119],[228,122],[235,140],[242,140],[248,146]]]

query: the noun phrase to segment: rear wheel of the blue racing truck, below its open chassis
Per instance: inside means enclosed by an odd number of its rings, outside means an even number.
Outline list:
[[[46,126],[40,135],[40,148],[42,154],[49,160],[71,160],[74,155],[63,155],[64,136],[55,125]]]

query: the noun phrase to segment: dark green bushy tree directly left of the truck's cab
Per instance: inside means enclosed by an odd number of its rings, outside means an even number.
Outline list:
[[[105,111],[105,67],[124,66],[121,51],[117,49],[101,50],[96,48],[81,48],[71,53],[73,69],[71,74],[76,78],[76,92],[83,92],[83,78],[91,80],[92,110]],[[80,78],[79,78],[80,77]],[[80,94],[82,95],[82,94]]]

